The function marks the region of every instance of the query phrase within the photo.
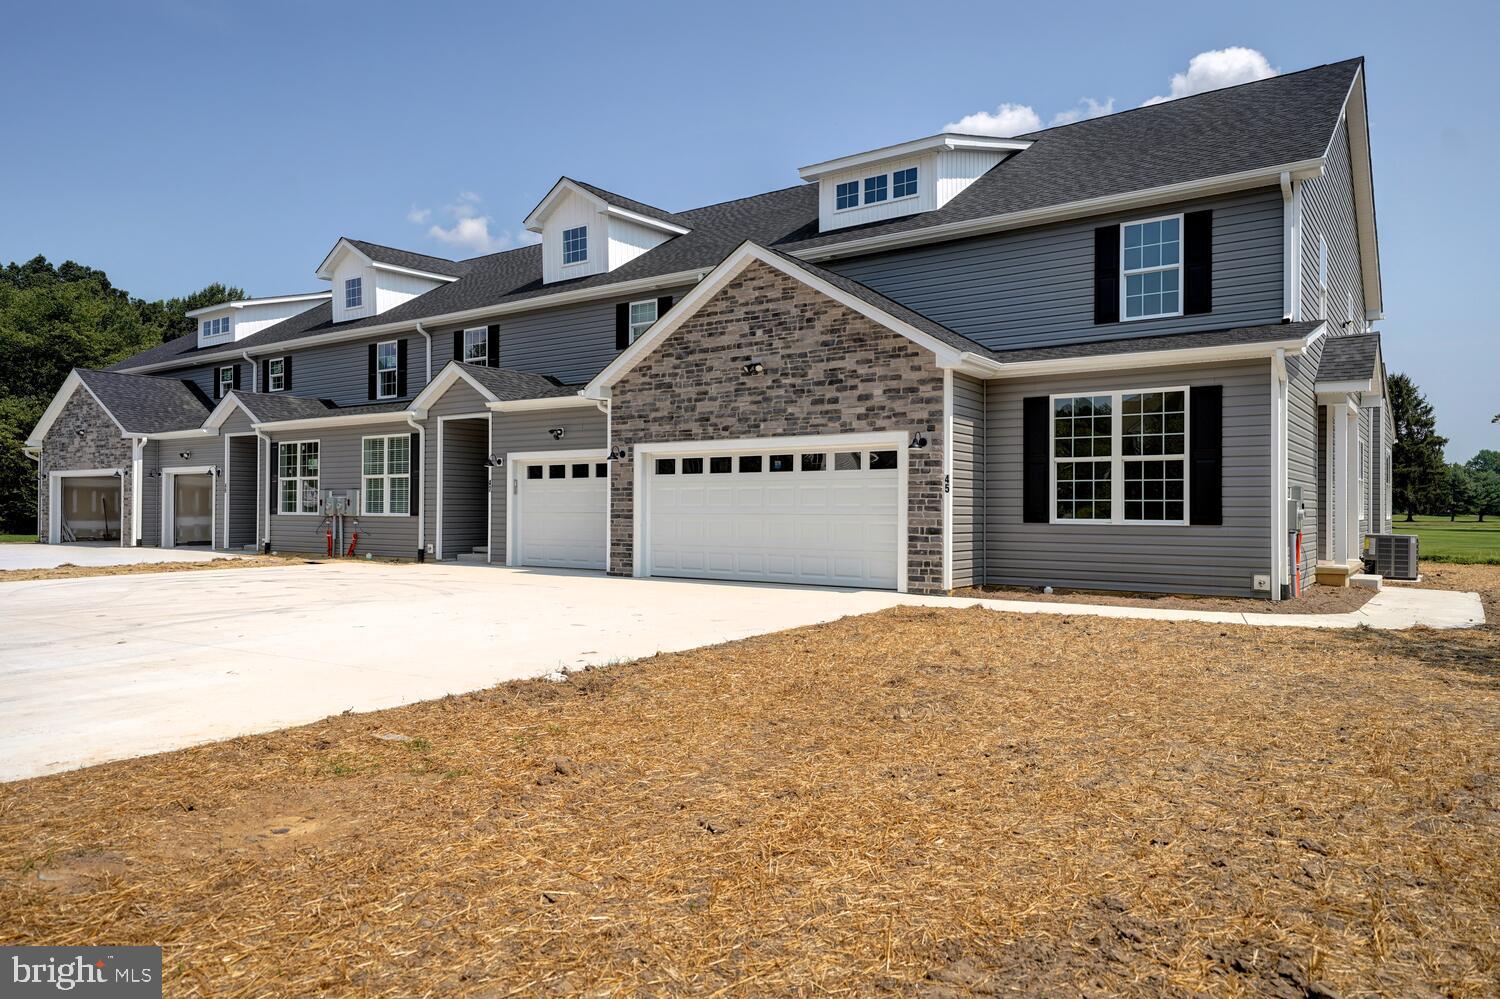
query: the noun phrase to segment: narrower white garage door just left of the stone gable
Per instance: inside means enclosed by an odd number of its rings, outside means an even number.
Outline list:
[[[609,465],[532,462],[520,468],[516,561],[555,568],[604,567]]]

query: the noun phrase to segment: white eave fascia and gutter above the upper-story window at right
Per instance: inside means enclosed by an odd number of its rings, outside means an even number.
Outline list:
[[[1118,195],[1084,198],[1083,201],[1068,201],[1065,204],[1047,206],[1044,208],[1029,208],[1026,212],[1012,212],[1010,214],[992,214],[982,219],[964,219],[962,222],[948,222],[946,225],[933,225],[924,230],[904,230],[884,236],[870,236],[862,240],[844,240],[842,243],[813,246],[789,252],[792,256],[798,256],[801,260],[831,260],[834,256],[873,254],[884,249],[920,246],[922,243],[938,243],[966,236],[1004,232],[1005,230],[1020,230],[1032,225],[1044,225],[1047,222],[1060,222],[1066,219],[1088,218],[1090,214],[1106,214],[1110,212],[1160,206],[1162,201],[1186,201],[1190,198],[1203,198],[1233,190],[1248,190],[1251,188],[1274,188],[1281,183],[1282,172],[1288,172],[1298,180],[1317,177],[1323,172],[1323,159],[1304,159],[1294,164],[1246,170],[1244,172],[1224,174],[1221,177],[1186,180],[1178,184],[1164,184],[1161,188],[1146,188]]]

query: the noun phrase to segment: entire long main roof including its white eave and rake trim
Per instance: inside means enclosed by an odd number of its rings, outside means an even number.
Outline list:
[[[264,348],[303,338],[338,339],[363,332],[410,330],[417,321],[458,324],[542,308],[543,303],[626,297],[690,285],[747,240],[802,260],[825,260],[921,240],[1036,225],[1070,213],[1083,216],[1106,210],[1101,207],[1106,204],[1120,207],[1124,202],[1146,204],[1168,196],[1198,196],[1218,189],[1275,184],[1282,170],[1317,170],[1346,102],[1352,117],[1356,112],[1362,117],[1362,66],[1360,58],[1329,63],[1018,136],[1029,142],[1028,148],[987,171],[942,208],[830,232],[818,230],[816,184],[798,184],[686,212],[664,212],[594,184],[562,178],[560,184],[566,182],[614,207],[688,231],[612,272],[554,284],[542,282],[540,246],[522,246],[466,261],[442,261],[350,240],[351,246],[381,254],[393,266],[410,266],[411,260],[402,264],[400,258],[393,256],[405,254],[428,261],[414,267],[417,270],[426,267],[436,273],[435,268],[446,264],[459,278],[363,320],[336,324],[332,321],[332,309],[320,304],[238,340],[232,354],[224,348],[196,351],[195,342],[174,340],[176,346],[153,348],[117,368],[184,364],[195,363],[198,357],[230,357],[240,351],[264,354]],[[1356,153],[1359,148],[1368,150],[1368,141],[1364,147],[1356,142],[1359,136],[1365,136],[1364,129],[1352,129],[1352,148]],[[1358,172],[1360,170],[1356,165]],[[1362,172],[1368,180],[1368,162]],[[1356,196],[1359,190],[1356,186]],[[1360,258],[1366,272],[1372,268],[1378,276],[1372,249],[1372,201],[1368,195],[1365,201],[1370,202],[1370,210],[1362,210],[1360,218],[1368,214],[1370,220],[1362,222],[1365,234]]]

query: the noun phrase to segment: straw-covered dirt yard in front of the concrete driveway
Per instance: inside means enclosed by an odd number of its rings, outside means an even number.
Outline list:
[[[1494,624],[897,609],[0,786],[0,942],[171,996],[1492,996],[1497,750]]]

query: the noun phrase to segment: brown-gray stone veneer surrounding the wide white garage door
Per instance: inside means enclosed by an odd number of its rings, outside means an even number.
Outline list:
[[[742,364],[759,360],[764,375]],[[610,440],[922,430],[908,450],[908,585],[942,588],[942,372],[932,352],[760,262],[675,330],[610,393]],[[634,460],[612,464],[609,572],[633,568]]]

